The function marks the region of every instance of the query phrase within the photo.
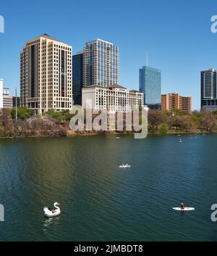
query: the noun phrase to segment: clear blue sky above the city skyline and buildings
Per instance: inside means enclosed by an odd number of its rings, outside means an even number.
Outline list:
[[[43,33],[80,51],[85,41],[102,38],[119,46],[121,85],[139,88],[139,68],[162,70],[162,93],[190,95],[200,107],[200,70],[217,68],[217,15],[214,0],[1,1],[5,33],[0,33],[0,77],[20,87],[20,51]]]

